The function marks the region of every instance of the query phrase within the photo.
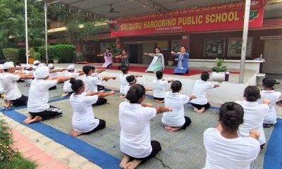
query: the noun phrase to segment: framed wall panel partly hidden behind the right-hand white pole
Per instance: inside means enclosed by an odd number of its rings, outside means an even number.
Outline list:
[[[227,56],[241,56],[242,42],[243,42],[242,37],[229,38]],[[248,37],[246,56],[250,57],[251,55],[252,55],[252,37]]]

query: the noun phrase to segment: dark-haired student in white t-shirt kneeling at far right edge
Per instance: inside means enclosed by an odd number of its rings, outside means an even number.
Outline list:
[[[265,77],[262,80],[262,87],[264,87],[264,89],[260,92],[262,97],[259,99],[259,104],[262,104],[264,99],[270,100],[269,112],[264,117],[264,127],[271,127],[276,123],[277,116],[275,106],[279,97],[281,97],[281,92],[274,91],[275,84],[277,84],[276,80],[271,77]]]

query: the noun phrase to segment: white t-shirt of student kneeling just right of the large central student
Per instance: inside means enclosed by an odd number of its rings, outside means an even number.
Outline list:
[[[164,106],[171,107],[172,111],[163,113],[161,122],[171,127],[181,127],[185,123],[184,104],[189,102],[189,97],[184,94],[166,92],[164,96]]]

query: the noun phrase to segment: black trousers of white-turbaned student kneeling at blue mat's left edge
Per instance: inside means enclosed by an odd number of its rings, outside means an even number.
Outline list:
[[[42,111],[42,112],[38,112],[38,113],[30,112],[30,115],[32,115],[33,117],[38,115],[39,117],[42,118],[42,120],[48,120],[51,118],[58,118],[62,113],[63,112],[61,111],[60,108],[50,106],[49,108],[47,108],[47,110]]]

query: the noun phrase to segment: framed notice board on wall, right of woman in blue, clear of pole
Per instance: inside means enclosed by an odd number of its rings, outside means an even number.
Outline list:
[[[204,56],[224,56],[225,39],[204,39]]]

